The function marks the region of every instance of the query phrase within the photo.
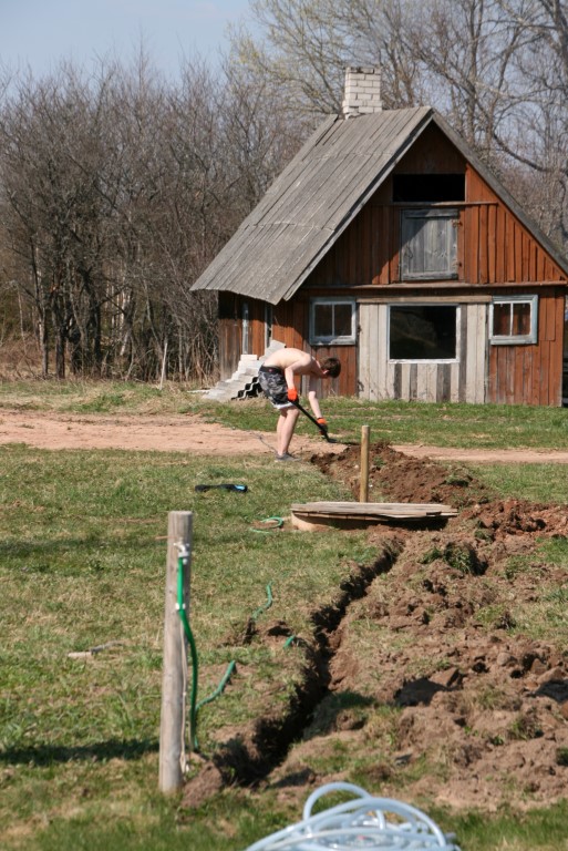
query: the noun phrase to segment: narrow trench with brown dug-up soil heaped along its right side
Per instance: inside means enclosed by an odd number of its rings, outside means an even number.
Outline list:
[[[309,460],[358,498],[359,448]],[[568,535],[566,507],[495,500],[466,469],[383,443],[371,448],[370,486],[458,516],[443,529],[369,530],[378,558],[353,565],[337,599],[314,608],[293,698],[221,747],[185,806],[229,778],[303,800],[344,779],[313,767],[339,745],[359,756],[358,781],[386,797],[486,811],[564,799],[567,654],[550,630],[526,635],[515,613],[538,605],[544,586],[567,588],[566,571],[538,553],[543,539]],[[286,624],[249,637],[275,635]]]

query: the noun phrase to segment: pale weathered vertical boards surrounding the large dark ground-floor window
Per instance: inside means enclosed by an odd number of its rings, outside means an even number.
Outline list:
[[[487,305],[461,304],[458,358],[455,362],[390,361],[389,306],[365,303],[359,308],[360,396],[372,401],[485,401]]]

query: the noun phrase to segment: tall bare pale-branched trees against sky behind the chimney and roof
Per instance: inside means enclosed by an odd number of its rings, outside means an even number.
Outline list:
[[[566,0],[252,0],[236,60],[313,117],[349,64],[382,69],[388,109],[434,105],[559,244],[568,240]]]

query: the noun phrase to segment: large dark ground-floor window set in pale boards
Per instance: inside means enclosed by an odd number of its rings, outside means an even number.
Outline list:
[[[457,360],[457,305],[391,305],[390,360]]]

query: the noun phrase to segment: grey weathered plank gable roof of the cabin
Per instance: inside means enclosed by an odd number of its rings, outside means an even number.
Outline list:
[[[474,151],[435,110],[417,106],[349,120],[327,119],[192,289],[237,293],[273,305],[291,298],[431,123],[445,133],[568,275],[568,260]]]

